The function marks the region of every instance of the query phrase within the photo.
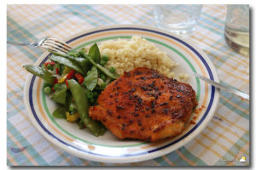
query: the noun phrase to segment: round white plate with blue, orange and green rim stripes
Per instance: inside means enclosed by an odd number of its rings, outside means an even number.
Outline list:
[[[165,139],[157,143],[148,143],[138,140],[120,140],[109,131],[101,137],[93,136],[87,129],[79,130],[75,123],[51,116],[56,105],[44,95],[43,81],[38,77],[29,75],[24,88],[24,102],[26,111],[32,124],[45,139],[55,144],[61,150],[90,161],[102,162],[134,162],[153,159],[166,155],[187,144],[210,122],[218,105],[219,92],[217,88],[202,82],[194,77],[192,72],[208,77],[218,82],[214,66],[207,55],[191,42],[172,35],[167,31],[148,26],[104,26],[89,31],[83,31],[73,37],[67,38],[74,48],[81,48],[93,42],[102,42],[108,39],[131,38],[138,35],[165,51],[172,60],[179,65],[173,70],[189,74],[189,84],[195,89],[198,107],[201,111],[196,115],[195,124],[189,123],[183,133],[172,139]],[[35,65],[42,65],[49,53],[44,53]]]

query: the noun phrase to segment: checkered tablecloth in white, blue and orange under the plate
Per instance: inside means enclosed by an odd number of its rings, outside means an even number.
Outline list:
[[[187,37],[212,60],[220,82],[249,93],[249,58],[224,41],[226,5],[203,5],[196,30]],[[49,35],[70,37],[113,24],[156,26],[152,5],[8,5],[7,39],[35,42]],[[22,68],[44,51],[7,46],[7,163],[9,166],[207,166],[249,165],[249,104],[221,92],[218,109],[195,139],[166,156],[136,163],[87,161],[56,148],[32,126],[23,103],[28,73]],[[241,156],[246,161],[240,162]],[[233,161],[232,161],[233,160]],[[238,160],[238,161],[237,161]]]

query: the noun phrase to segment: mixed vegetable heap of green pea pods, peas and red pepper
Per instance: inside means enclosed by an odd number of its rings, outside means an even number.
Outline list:
[[[88,112],[108,83],[119,77],[113,67],[109,70],[104,67],[108,56],[100,54],[96,43],[88,54],[84,48],[69,54],[50,52],[50,61],[41,67],[24,67],[44,79],[44,93],[59,105],[53,116],[76,122],[81,129],[87,127],[95,136],[103,135],[106,128],[92,120]]]

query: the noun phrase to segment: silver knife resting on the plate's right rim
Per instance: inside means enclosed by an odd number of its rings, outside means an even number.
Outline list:
[[[248,94],[244,93],[244,92],[241,92],[240,90],[237,90],[237,89],[235,89],[235,88],[230,88],[230,87],[228,87],[228,86],[225,86],[225,85],[223,85],[223,84],[220,84],[219,82],[214,82],[214,81],[210,80],[209,78],[203,77],[203,76],[201,76],[201,75],[199,75],[199,74],[197,74],[197,73],[195,73],[195,72],[194,72],[193,74],[195,75],[195,77],[198,77],[198,78],[200,78],[201,80],[212,84],[212,85],[215,86],[216,88],[223,89],[223,90],[225,90],[225,91],[227,91],[227,92],[230,92],[231,94],[236,94],[236,95],[238,95],[238,96],[241,97],[242,99],[245,99],[245,100],[247,100],[247,101],[250,101],[250,96],[249,96]]]

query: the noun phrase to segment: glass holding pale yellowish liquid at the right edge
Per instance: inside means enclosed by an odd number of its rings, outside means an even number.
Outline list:
[[[233,4],[227,6],[225,20],[225,40],[230,48],[239,54],[249,56],[250,48],[250,10],[249,5]]]

